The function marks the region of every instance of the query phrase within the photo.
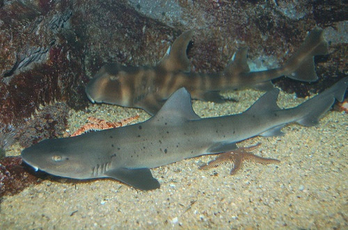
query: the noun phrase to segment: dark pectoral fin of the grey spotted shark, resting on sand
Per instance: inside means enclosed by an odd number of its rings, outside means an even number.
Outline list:
[[[105,175],[141,190],[159,188],[159,182],[152,176],[148,168],[129,169],[123,167],[106,172]]]

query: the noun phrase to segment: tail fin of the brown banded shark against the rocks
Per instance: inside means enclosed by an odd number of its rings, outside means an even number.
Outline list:
[[[321,28],[314,28],[308,34],[296,53],[280,69],[285,76],[297,81],[317,81],[314,56],[329,54],[329,44]]]

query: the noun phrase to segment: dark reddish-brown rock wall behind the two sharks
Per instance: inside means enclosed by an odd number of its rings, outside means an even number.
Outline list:
[[[84,86],[104,63],[155,65],[182,31],[195,30],[192,70],[223,69],[248,46],[256,67],[281,65],[315,26],[330,54],[319,81],[277,79],[305,97],[347,75],[344,1],[0,1],[0,147],[61,136],[69,109],[90,103]]]

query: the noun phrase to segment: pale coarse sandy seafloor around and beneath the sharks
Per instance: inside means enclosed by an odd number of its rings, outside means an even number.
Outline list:
[[[193,101],[202,117],[240,113],[262,92],[241,90],[227,97],[239,103]],[[280,92],[278,105],[303,99]],[[95,116],[108,121],[139,113],[132,108],[93,105],[70,113],[69,131]],[[246,163],[230,176],[230,164],[198,166],[200,156],[152,169],[161,188],[141,191],[113,179],[46,179],[18,195],[3,197],[0,229],[348,229],[348,115],[329,111],[319,126],[290,124],[281,137],[256,137],[239,146],[262,145],[255,154],[278,165]],[[20,154],[13,147],[7,155]]]

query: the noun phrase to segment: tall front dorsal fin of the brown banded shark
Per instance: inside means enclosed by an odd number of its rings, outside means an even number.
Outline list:
[[[187,58],[186,50],[193,35],[193,31],[186,31],[182,33],[173,43],[167,54],[164,55],[159,62],[158,67],[166,69],[168,72],[174,71],[190,71],[190,62]]]

